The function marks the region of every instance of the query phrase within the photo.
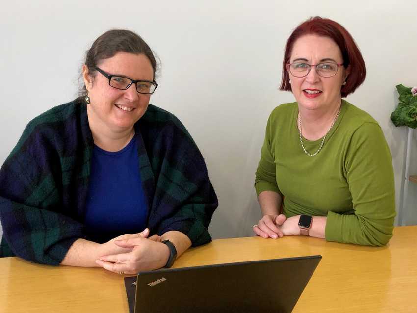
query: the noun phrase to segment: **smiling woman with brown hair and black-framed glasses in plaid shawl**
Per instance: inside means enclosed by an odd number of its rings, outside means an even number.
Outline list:
[[[33,119],[1,168],[0,255],[135,274],[211,240],[217,197],[182,123],[149,104],[156,69],[134,32],[95,40],[82,96]]]

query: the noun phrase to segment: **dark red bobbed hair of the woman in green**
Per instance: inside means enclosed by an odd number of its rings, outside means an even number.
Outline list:
[[[358,46],[356,46],[351,34],[339,23],[319,16],[312,17],[301,23],[291,33],[287,40],[283,62],[283,77],[280,90],[291,90],[289,84],[289,74],[287,63],[291,57],[292,47],[295,41],[304,35],[318,35],[329,37],[338,46],[343,57],[343,66],[346,69],[350,65],[350,74],[346,79],[346,84],[342,86],[340,94],[346,97],[355,91],[365,80],[366,66]]]

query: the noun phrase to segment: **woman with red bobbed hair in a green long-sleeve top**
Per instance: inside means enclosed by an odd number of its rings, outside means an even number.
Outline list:
[[[300,24],[285,48],[281,90],[266,126],[255,188],[264,238],[309,235],[382,246],[395,217],[391,153],[378,123],[342,99],[365,80],[352,36],[335,21]]]

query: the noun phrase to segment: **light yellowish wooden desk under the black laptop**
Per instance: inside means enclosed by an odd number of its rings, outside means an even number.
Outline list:
[[[306,312],[417,312],[417,226],[397,227],[387,247],[305,236],[214,240],[175,267],[322,255],[295,306]],[[45,266],[0,258],[0,312],[129,312],[123,276],[101,268]],[[279,295],[277,295],[279,296]]]

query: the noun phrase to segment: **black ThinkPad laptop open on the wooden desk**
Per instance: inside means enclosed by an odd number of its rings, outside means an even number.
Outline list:
[[[321,256],[140,272],[125,277],[130,313],[289,313]]]

